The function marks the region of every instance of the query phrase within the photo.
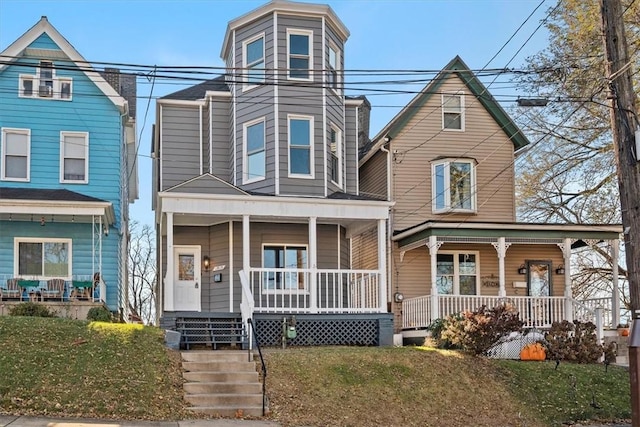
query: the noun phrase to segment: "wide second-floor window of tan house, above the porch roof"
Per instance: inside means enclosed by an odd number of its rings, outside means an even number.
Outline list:
[[[473,212],[476,208],[475,162],[444,160],[433,165],[433,211]]]

